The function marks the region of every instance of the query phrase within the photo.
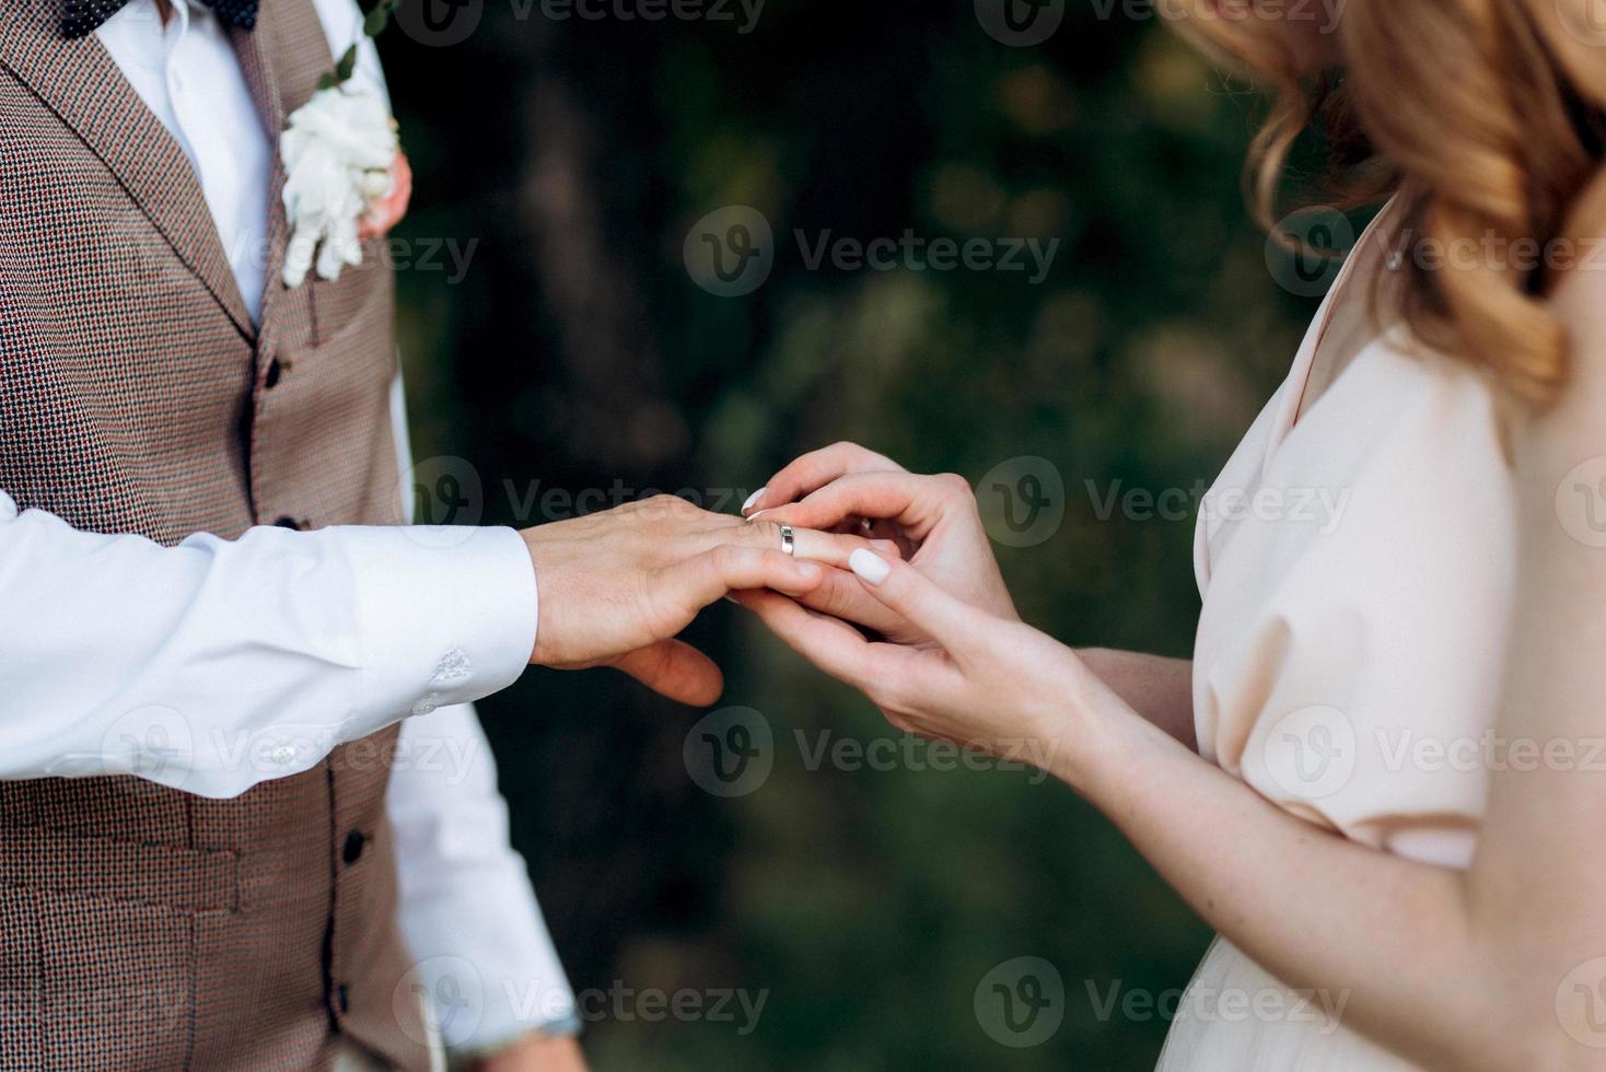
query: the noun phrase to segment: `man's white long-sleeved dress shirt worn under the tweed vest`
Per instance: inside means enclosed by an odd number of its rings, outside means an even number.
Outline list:
[[[361,14],[315,5],[339,55]],[[226,32],[186,0],[165,26],[154,0],[133,0],[96,34],[190,157],[255,316],[273,152]],[[366,39],[357,77],[384,91]],[[392,401],[405,472],[400,380]],[[577,1025],[464,706],[517,679],[533,648],[535,571],[516,531],[255,528],[161,547],[19,512],[0,489],[0,605],[3,778],[133,774],[230,798],[406,719],[385,804],[418,982],[453,998],[446,1043]]]

